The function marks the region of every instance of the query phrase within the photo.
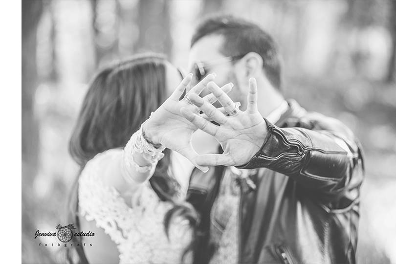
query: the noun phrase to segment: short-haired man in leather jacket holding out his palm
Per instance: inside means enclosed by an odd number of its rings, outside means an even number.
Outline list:
[[[197,81],[216,72],[218,85],[235,85],[229,97],[208,85],[228,115],[195,94],[186,100],[206,115],[181,111],[224,150],[195,160],[213,167],[190,179],[187,200],[200,214],[194,262],[354,263],[363,158],[352,132],[285,101],[277,47],[253,23],[203,21],[189,65]]]

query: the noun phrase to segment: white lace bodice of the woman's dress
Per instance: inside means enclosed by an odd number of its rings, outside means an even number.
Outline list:
[[[141,184],[130,207],[120,193],[100,178],[99,166],[107,159],[122,160],[123,150],[114,149],[91,159],[79,179],[80,216],[104,229],[119,250],[120,263],[180,263],[182,251],[191,240],[186,220],[171,224],[170,241],[163,226],[165,213],[172,207],[161,201],[150,183]]]

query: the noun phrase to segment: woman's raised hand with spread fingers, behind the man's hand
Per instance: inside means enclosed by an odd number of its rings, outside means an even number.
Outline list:
[[[186,120],[180,113],[181,108],[185,108],[194,114],[199,114],[199,108],[189,102],[190,96],[193,94],[199,97],[204,88],[216,77],[214,73],[206,76],[196,86],[189,89],[193,74],[190,73],[177,86],[172,95],[150,116],[143,124],[142,130],[145,138],[151,143],[161,144],[162,146],[176,151],[188,158],[198,169],[206,172],[206,166],[200,166],[196,162],[198,153],[191,145],[192,134],[197,130],[196,126]],[[221,88],[222,92],[228,93],[232,88],[231,84]],[[186,96],[179,100],[184,90],[187,91]],[[213,104],[217,98],[213,94],[209,94],[202,98],[206,103]]]

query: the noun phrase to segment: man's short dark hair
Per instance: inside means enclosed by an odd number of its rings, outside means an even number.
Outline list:
[[[281,89],[282,74],[278,48],[272,37],[258,25],[231,15],[208,17],[196,28],[191,47],[208,35],[224,37],[220,52],[224,56],[256,52],[263,58],[265,75],[273,87]]]

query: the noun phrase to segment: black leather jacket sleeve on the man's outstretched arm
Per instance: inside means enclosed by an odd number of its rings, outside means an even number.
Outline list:
[[[329,195],[343,192],[352,182],[360,185],[361,179],[352,180],[355,167],[363,168],[360,144],[340,121],[318,113],[288,120],[285,128],[265,121],[262,148],[238,168],[268,168]]]

